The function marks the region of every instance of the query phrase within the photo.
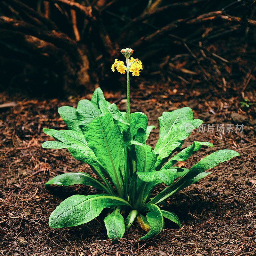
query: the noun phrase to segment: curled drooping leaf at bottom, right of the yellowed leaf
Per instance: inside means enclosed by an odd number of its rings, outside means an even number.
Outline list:
[[[146,240],[155,236],[164,228],[164,217],[160,208],[156,204],[146,204],[145,206],[149,209],[146,217],[150,224],[150,231],[145,236],[139,238],[140,240]]]

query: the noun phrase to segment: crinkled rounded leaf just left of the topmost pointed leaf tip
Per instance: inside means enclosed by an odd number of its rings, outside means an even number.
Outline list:
[[[79,118],[79,125],[85,133],[86,127],[100,114],[100,109],[90,100],[80,100],[76,108],[76,115]]]

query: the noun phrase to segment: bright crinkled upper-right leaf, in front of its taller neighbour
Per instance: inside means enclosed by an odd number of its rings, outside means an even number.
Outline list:
[[[171,130],[164,137],[161,144],[157,148],[156,152],[157,161],[155,164],[156,170],[159,170],[165,160],[172,155],[172,153],[179,148],[183,141],[188,138],[193,129],[199,127],[202,124],[202,120],[194,119],[188,121],[181,121],[179,125],[172,125]]]

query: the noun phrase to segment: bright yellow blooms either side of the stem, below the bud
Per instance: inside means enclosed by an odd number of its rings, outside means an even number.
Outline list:
[[[115,62],[111,67],[113,72],[115,71],[115,68],[121,74],[125,74],[125,71],[127,70],[124,62],[117,59],[115,59]],[[140,76],[140,69],[143,69],[141,61],[131,57],[131,59],[129,59],[129,71],[132,72],[132,76]]]

